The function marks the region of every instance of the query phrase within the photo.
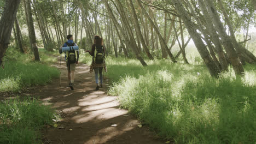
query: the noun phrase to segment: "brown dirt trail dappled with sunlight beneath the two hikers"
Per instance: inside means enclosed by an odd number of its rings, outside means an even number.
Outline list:
[[[59,64],[54,66],[60,68]],[[116,97],[107,95],[106,88],[95,91],[94,74],[89,72],[88,65],[78,64],[74,91],[65,88],[65,65],[62,65],[61,72],[62,87],[59,87],[59,80],[54,80],[33,91],[44,103],[60,111],[62,116],[58,127],[63,128],[45,129],[44,143],[164,143],[146,126],[139,128],[136,118],[119,109]],[[117,124],[117,127],[112,127],[112,124]]]

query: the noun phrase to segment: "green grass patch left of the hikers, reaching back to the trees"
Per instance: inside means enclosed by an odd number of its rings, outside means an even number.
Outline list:
[[[42,62],[33,62],[33,55],[22,54],[10,47],[0,68],[0,92],[18,92],[32,85],[45,85],[59,77],[57,68],[49,67],[57,61],[56,52],[39,49]],[[54,57],[56,56],[56,57]]]

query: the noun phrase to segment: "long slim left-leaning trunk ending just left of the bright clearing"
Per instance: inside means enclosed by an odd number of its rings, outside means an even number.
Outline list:
[[[161,46],[163,46],[163,48],[168,52],[168,55],[170,56],[172,62],[177,63],[177,61],[175,60],[175,58],[173,57],[171,51],[168,49],[168,46],[165,43],[164,38],[162,38],[162,35],[158,29],[158,27],[155,26],[153,20],[150,18],[150,16],[148,15],[148,13],[146,12],[146,9],[144,9],[143,5],[141,4],[141,1],[137,0],[137,3],[139,4],[139,7],[141,7],[143,13],[145,14],[145,16],[148,18],[149,22],[152,24],[152,26],[154,27],[156,33],[158,34]]]

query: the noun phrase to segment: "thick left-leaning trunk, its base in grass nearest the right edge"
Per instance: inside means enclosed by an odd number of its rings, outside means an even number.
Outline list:
[[[202,0],[199,0],[199,1],[202,1]],[[231,65],[233,66],[236,75],[238,76],[238,75],[244,74],[245,70],[243,69],[242,64],[240,63],[240,60],[237,56],[237,53],[234,49],[234,46],[232,44],[230,37],[225,32],[225,29],[222,25],[222,22],[220,21],[220,17],[217,13],[217,10],[213,2],[211,0],[206,0],[206,3],[207,3],[208,11],[210,12],[212,22],[214,23],[214,26],[216,27],[220,37],[222,38],[226,53],[228,54]]]

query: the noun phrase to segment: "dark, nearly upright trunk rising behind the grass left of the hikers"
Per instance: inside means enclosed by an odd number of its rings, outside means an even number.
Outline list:
[[[30,29],[31,32],[31,42],[32,42],[32,48],[34,52],[34,60],[40,61],[38,47],[37,47],[37,39],[36,39],[36,32],[34,32],[34,23],[33,23],[33,17],[32,17],[32,11],[31,11],[31,1],[27,0],[27,16],[28,16],[28,29]]]

